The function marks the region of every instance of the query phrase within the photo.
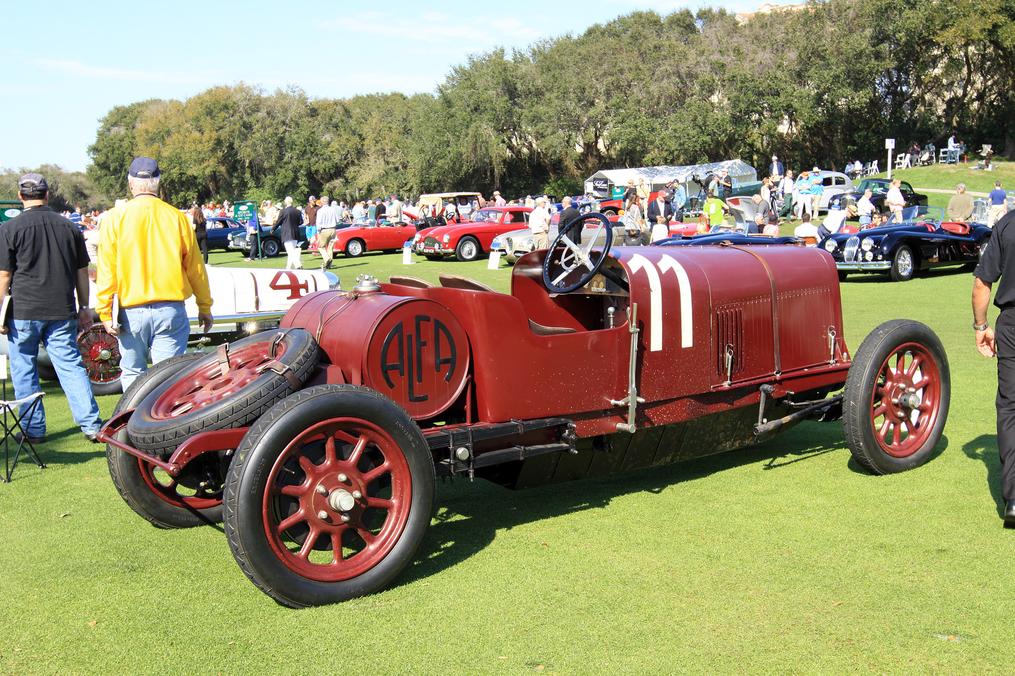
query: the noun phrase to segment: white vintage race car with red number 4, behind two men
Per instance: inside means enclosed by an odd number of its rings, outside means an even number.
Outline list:
[[[194,298],[184,303],[191,322],[191,351],[201,351],[234,341],[251,333],[271,330],[285,311],[315,291],[340,289],[338,277],[319,270],[266,270],[264,268],[206,268],[214,325],[204,335],[197,325],[197,303]],[[92,280],[94,282],[94,280]],[[95,306],[95,287],[91,285],[89,304]],[[117,394],[120,388],[120,348],[116,337],[106,332],[94,315],[95,324],[81,331],[77,344],[81,348],[84,368],[95,394]],[[0,336],[0,354],[7,354],[7,336]],[[46,350],[39,350],[39,375],[55,380],[56,372]]]

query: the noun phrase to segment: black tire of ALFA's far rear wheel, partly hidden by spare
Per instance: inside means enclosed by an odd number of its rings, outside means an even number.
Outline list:
[[[155,364],[130,384],[113,409],[113,416],[136,407],[152,390],[203,357],[200,353],[190,353]],[[127,430],[121,430],[116,438],[121,443],[132,445]],[[218,460],[217,456],[215,460]],[[130,453],[107,444],[106,462],[120,497],[138,516],[152,525],[158,528],[192,528],[221,522],[221,503],[206,509],[187,509],[156,495],[142,475],[138,459]]]

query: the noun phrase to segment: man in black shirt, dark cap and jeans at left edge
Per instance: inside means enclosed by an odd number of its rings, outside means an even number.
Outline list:
[[[0,333],[7,334],[14,396],[21,399],[42,391],[37,368],[42,343],[60,377],[74,422],[94,442],[103,421],[77,347],[78,331],[91,326],[84,236],[76,225],[46,206],[46,178],[26,173],[17,186],[24,211],[0,228],[0,298],[9,293],[13,310],[11,318],[3,318]],[[24,421],[24,430],[32,444],[46,441],[42,405]]]

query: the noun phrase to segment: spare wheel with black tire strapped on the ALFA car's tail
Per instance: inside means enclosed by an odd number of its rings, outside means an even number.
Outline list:
[[[248,336],[230,344],[230,352],[243,354],[245,348],[264,348],[277,334],[276,331],[265,331]],[[285,351],[278,357],[279,362],[288,366],[296,379],[302,383],[314,372],[318,364],[318,344],[310,331],[302,328],[290,328],[284,332],[282,343]],[[230,361],[235,368],[245,368],[243,358],[233,357]],[[254,357],[253,359],[259,359]],[[267,361],[267,357],[263,358]],[[238,363],[240,361],[240,363]],[[260,364],[255,364],[254,368]],[[213,430],[227,430],[247,427],[279,399],[291,394],[296,388],[284,376],[274,371],[262,371],[256,378],[239,387],[219,388],[220,398],[212,400],[207,405],[201,405],[193,410],[186,404],[180,404],[180,412],[175,409],[176,402],[183,400],[179,396],[185,391],[214,392],[214,382],[222,378],[228,382],[229,376],[219,376],[218,358],[215,355],[205,355],[204,359],[191,365],[189,369],[177,374],[177,377],[163,382],[152,390],[137,405],[137,410],[128,425],[131,441],[135,447],[152,454],[172,453],[191,435]],[[186,382],[184,379],[188,379]],[[220,381],[221,382],[221,381]],[[195,389],[198,388],[198,389]],[[163,398],[163,396],[165,398]],[[153,409],[157,409],[156,414]]]

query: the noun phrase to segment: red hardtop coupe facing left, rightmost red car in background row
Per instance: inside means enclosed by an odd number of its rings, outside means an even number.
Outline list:
[[[518,230],[529,222],[528,207],[484,207],[472,220],[429,228],[416,239],[415,251],[430,260],[454,255],[459,260],[475,260],[490,250],[493,238]]]

